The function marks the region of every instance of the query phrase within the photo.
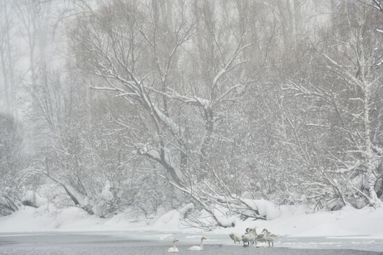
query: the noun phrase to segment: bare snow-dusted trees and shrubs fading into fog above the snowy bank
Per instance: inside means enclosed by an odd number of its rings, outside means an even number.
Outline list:
[[[382,4],[1,0],[0,213],[380,206]]]

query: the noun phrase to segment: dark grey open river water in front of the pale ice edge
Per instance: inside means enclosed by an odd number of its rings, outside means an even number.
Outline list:
[[[187,248],[191,244],[196,244],[197,237],[194,236],[181,236],[180,240],[184,240],[184,243],[177,245],[180,252],[178,254],[193,254],[198,252],[189,252]],[[155,236],[155,235],[154,235]],[[163,235],[166,236],[166,235]],[[142,240],[134,240],[134,238],[143,237]],[[145,239],[146,237],[146,239]],[[146,235],[145,233],[135,234],[132,233],[119,233],[117,235],[107,236],[102,233],[33,233],[33,234],[3,234],[0,235],[0,254],[7,255],[153,255],[153,254],[169,254],[167,249],[171,247],[169,237],[162,238],[161,235],[157,235],[159,238],[153,238],[153,235]],[[219,239],[210,237],[212,242],[221,242]],[[298,238],[299,239],[299,238]],[[226,240],[226,239],[225,239]],[[276,247],[242,247],[242,245],[228,245],[228,244],[206,244],[204,245],[203,254],[206,255],[240,255],[240,254],[294,254],[294,255],[376,255],[383,254],[383,252],[373,251],[358,251],[355,249],[294,249],[294,245],[291,247],[281,247],[283,243],[297,243],[305,240],[290,239],[276,243]],[[306,242],[312,242],[318,245],[320,242],[314,240],[306,240]],[[336,244],[336,241],[329,242]],[[286,246],[286,245],[283,245]],[[302,246],[301,246],[302,247]],[[318,248],[318,246],[316,246]],[[334,246],[334,248],[336,248]]]

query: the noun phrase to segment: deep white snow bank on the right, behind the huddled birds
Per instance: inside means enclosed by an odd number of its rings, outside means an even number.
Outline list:
[[[383,208],[355,209],[307,213],[306,206],[281,206],[281,215],[275,220],[237,222],[235,230],[217,229],[215,233],[244,232],[247,227],[258,233],[268,229],[281,236],[374,236],[383,238]]]

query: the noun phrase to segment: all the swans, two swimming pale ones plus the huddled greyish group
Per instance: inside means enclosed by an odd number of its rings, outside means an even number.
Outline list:
[[[270,247],[270,243],[274,247],[274,242],[278,239],[278,236],[270,233],[267,229],[263,229],[263,231],[258,234],[255,228],[254,229],[247,228],[244,234],[230,233],[229,236],[234,241],[235,244],[237,242],[241,243],[242,241],[244,247],[254,245],[254,243],[257,245],[257,242],[268,242],[269,247]],[[192,246],[192,247],[189,247],[188,250],[203,251],[203,240],[206,240],[205,236],[201,237],[200,246]],[[178,248],[175,247],[175,242],[178,242],[178,239],[173,238],[173,247],[170,247],[168,249],[168,252],[178,252]]]

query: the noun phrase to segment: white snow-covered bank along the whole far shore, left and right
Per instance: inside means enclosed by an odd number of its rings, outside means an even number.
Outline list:
[[[0,217],[0,232],[33,231],[180,231],[183,233],[202,232],[200,229],[186,228],[178,211],[169,211],[153,222],[130,222],[121,213],[111,219],[101,219],[88,215],[79,208],[48,210],[24,207],[21,210]],[[305,206],[280,206],[280,215],[274,220],[236,220],[234,228],[214,229],[214,234],[242,233],[247,227],[260,232],[263,228],[279,236],[364,236],[360,238],[383,239],[383,208],[354,209],[345,207],[341,211],[306,213]]]

